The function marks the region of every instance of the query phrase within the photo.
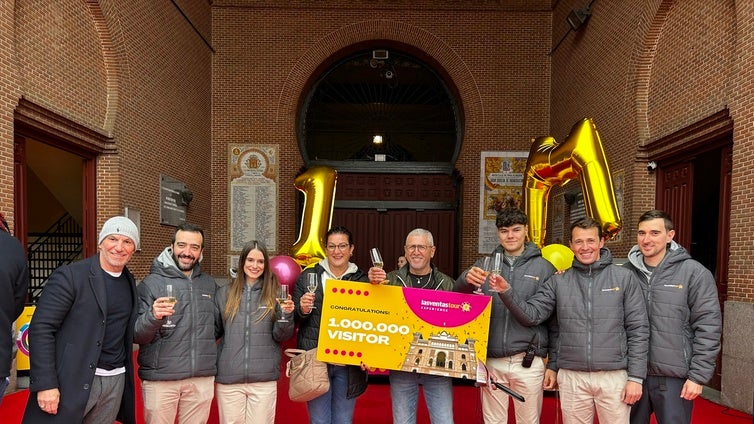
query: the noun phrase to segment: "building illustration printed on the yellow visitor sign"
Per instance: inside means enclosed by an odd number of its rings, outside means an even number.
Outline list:
[[[424,339],[421,333],[414,333],[401,370],[476,379],[474,343],[474,339],[468,339],[466,344],[459,344],[458,338],[446,331],[432,334],[429,339]]]

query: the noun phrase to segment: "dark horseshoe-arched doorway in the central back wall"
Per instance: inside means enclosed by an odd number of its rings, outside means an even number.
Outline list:
[[[354,233],[363,269],[379,247],[392,270],[406,234],[426,228],[438,247],[433,262],[455,275],[463,114],[454,86],[408,46],[338,56],[310,85],[298,120],[307,166],[338,170],[333,224]]]

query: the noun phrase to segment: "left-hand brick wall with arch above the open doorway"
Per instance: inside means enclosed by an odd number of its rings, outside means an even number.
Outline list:
[[[0,127],[2,175],[12,176],[13,155],[5,153],[12,152],[20,96],[110,137],[112,154],[97,160],[97,229],[125,207],[141,211],[142,252],[130,265],[138,277],[174,231],[158,224],[161,173],[187,184],[194,192],[187,219],[210,229],[211,49],[200,36],[211,35],[210,5],[177,3],[194,21],[170,2],[151,0],[127,7],[117,1],[20,1],[15,15],[12,6],[0,15],[3,38],[16,47],[0,45],[8,50],[3,57],[13,59],[0,65],[7,76],[0,81],[7,99],[0,105],[7,122]],[[13,182],[2,181],[0,202],[8,210]],[[211,263],[209,251],[205,259]]]

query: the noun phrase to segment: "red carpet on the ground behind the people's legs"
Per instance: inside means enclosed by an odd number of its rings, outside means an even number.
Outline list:
[[[276,422],[279,424],[299,424],[308,421],[306,404],[291,402],[287,394],[288,379],[283,376],[278,383]],[[28,390],[6,395],[3,398],[2,405],[0,405],[0,423],[20,423],[28,397]],[[137,393],[137,400],[140,399],[141,394]],[[137,413],[140,422],[143,422],[141,402],[137,403],[137,408],[139,409]],[[481,403],[477,388],[469,385],[456,385],[454,387],[453,408],[457,423],[482,423]],[[354,423],[390,424],[391,422],[390,387],[387,384],[387,377],[370,377],[369,388],[356,402]],[[509,423],[513,422],[513,418],[509,417]],[[561,422],[557,398],[551,394],[545,396],[541,422],[545,424]],[[694,424],[748,424],[752,422],[752,416],[699,398],[694,404],[692,422]],[[213,407],[209,423],[218,423],[215,407]],[[429,424],[429,414],[423,400],[419,402],[417,424]]]

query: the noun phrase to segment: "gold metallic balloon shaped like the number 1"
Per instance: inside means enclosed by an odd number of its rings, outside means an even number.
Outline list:
[[[337,178],[336,170],[314,166],[293,181],[304,193],[304,210],[298,240],[291,247],[290,255],[301,266],[315,264],[325,257],[325,234],[332,221]]]

